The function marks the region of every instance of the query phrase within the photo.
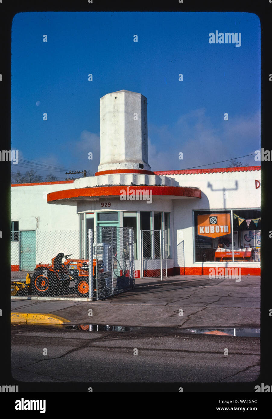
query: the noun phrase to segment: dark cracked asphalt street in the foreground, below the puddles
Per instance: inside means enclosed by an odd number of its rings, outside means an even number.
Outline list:
[[[20,388],[27,382],[86,383],[85,391],[99,382],[248,383],[259,376],[256,337],[192,336],[179,328],[90,332],[20,324],[11,329],[11,372],[23,382]]]

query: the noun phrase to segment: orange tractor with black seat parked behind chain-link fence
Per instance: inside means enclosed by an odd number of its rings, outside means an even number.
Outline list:
[[[58,253],[52,264],[39,264],[31,277],[31,293],[40,296],[57,296],[61,292],[88,296],[88,259],[68,259],[72,255]],[[62,263],[62,259],[65,259]],[[98,261],[98,264],[100,261]],[[100,267],[100,266],[99,266]],[[96,291],[96,259],[93,259],[94,291]]]

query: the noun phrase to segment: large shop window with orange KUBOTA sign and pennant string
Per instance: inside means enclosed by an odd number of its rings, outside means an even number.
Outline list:
[[[194,212],[195,261],[259,262],[260,215],[259,209]]]

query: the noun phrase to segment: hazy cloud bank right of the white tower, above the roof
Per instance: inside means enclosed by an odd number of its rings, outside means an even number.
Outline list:
[[[173,126],[151,125],[148,160],[151,170],[175,170],[254,153],[260,148],[260,115],[230,118],[215,128],[204,108],[182,115]],[[157,138],[157,144],[153,138]],[[253,150],[253,151],[252,151]],[[183,160],[179,160],[179,153]],[[238,159],[254,166],[254,155]],[[228,167],[229,162],[203,166]]]

